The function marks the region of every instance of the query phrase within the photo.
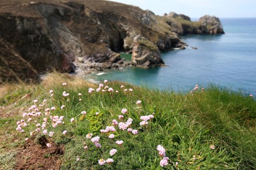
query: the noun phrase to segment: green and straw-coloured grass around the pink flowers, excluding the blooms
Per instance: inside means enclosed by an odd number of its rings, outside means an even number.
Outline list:
[[[63,82],[67,85],[62,85]],[[193,94],[149,90],[122,82],[108,82],[106,85],[119,93],[88,93],[89,88],[96,89],[98,85],[54,73],[39,85],[14,85],[9,88],[9,93],[1,96],[0,105],[7,107],[16,102],[15,107],[9,110],[22,107],[27,110],[34,104],[34,99],[39,100],[36,105],[47,99],[40,110],[43,116],[37,118],[37,123],[42,123],[42,118],[46,117],[44,109],[56,107],[50,115],[63,115],[65,123],[53,128],[49,118],[46,129],[48,133],[55,133],[51,138],[48,134],[46,137],[58,145],[65,145],[61,169],[255,169],[254,98],[214,85],[209,85],[204,92],[197,90]],[[121,85],[128,91],[124,92]],[[129,88],[133,91],[129,92]],[[50,97],[49,90],[54,90],[54,96]],[[63,97],[63,91],[70,95]],[[21,99],[27,94],[30,95]],[[137,100],[141,100],[142,104],[136,104]],[[64,109],[60,109],[62,105],[65,105]],[[123,120],[119,120],[118,115],[122,114],[123,108],[128,112]],[[83,110],[86,115],[81,115]],[[95,115],[96,112],[99,115]],[[154,118],[148,121],[148,125],[140,126],[140,117],[153,113]],[[21,115],[15,115],[14,120],[22,119]],[[71,118],[74,122],[70,122]],[[126,122],[128,118],[133,119],[130,128],[137,129],[138,134],[123,131],[118,126],[114,126],[114,139],[108,137],[109,133],[100,133],[100,129],[112,125],[113,119]],[[5,122],[7,119],[1,120],[1,129],[7,127]],[[12,131],[7,133],[15,134],[20,143],[6,145],[4,149],[22,145],[25,137],[31,138],[30,131],[36,129],[35,125],[28,123],[23,128],[25,133],[21,134],[15,131],[17,125],[10,123]],[[65,135],[62,134],[64,130],[68,131]],[[93,137],[100,136],[102,147],[95,147],[86,138],[88,133],[92,133]],[[34,135],[41,136],[42,130]],[[115,143],[117,140],[124,141],[122,147]],[[163,168],[159,165],[162,158],[156,150],[158,145],[166,149],[166,156],[169,157],[167,166]],[[215,149],[210,149],[210,145],[214,145]],[[88,149],[84,150],[84,146]],[[118,152],[110,156],[111,149]],[[102,158],[113,158],[114,162],[100,166],[98,160]],[[4,168],[2,163],[0,167]]]

